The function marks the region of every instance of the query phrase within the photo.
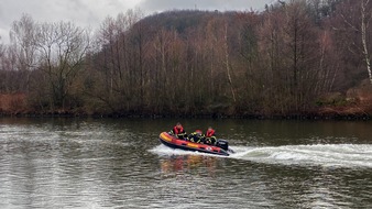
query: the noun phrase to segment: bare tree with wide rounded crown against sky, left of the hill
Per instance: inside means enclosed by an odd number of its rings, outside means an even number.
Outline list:
[[[37,61],[51,85],[52,108],[65,109],[90,46],[89,33],[70,22],[59,22],[39,24],[36,36]]]

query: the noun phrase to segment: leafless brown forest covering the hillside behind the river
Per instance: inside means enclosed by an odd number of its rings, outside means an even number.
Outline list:
[[[372,2],[264,11],[129,10],[99,30],[14,21],[2,114],[371,116]]]

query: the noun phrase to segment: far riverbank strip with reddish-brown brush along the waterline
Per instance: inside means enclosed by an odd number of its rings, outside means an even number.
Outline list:
[[[358,95],[358,94],[357,94]],[[349,94],[350,96],[350,94]],[[39,110],[28,106],[28,97],[24,94],[1,94],[0,116],[2,117],[29,117],[29,118],[237,118],[237,119],[285,119],[285,120],[371,120],[372,119],[372,96],[349,97],[340,94],[328,95],[318,100],[317,106],[311,110],[287,113],[287,114],[264,114],[250,112],[219,111],[219,112],[194,112],[194,113],[153,113],[151,111],[86,111],[85,109],[74,110]]]

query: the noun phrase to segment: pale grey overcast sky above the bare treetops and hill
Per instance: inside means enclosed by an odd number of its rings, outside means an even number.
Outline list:
[[[9,31],[23,13],[34,21],[70,21],[96,30],[106,16],[116,18],[128,9],[140,9],[145,14],[174,9],[198,10],[262,10],[276,0],[0,0],[0,36],[9,42]]]

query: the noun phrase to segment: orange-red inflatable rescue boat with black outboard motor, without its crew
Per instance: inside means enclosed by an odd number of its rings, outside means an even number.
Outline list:
[[[225,140],[218,140],[216,145],[208,145],[180,140],[167,132],[162,132],[158,138],[164,145],[171,148],[179,148],[184,151],[195,151],[225,156],[229,156],[230,153],[233,153],[233,151],[229,148],[228,142]]]

